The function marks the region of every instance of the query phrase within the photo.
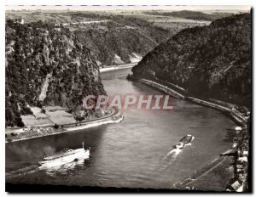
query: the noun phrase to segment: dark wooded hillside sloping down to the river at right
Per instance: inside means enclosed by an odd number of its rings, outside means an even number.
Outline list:
[[[137,77],[176,83],[190,94],[251,106],[251,15],[185,29],[133,68]]]

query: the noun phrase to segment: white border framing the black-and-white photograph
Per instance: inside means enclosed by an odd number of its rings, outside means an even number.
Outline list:
[[[117,0],[91,0],[91,1],[81,1],[81,0],[54,0],[54,1],[50,1],[50,0],[44,0],[44,1],[32,1],[32,0],[5,0],[4,2],[1,2],[1,9],[0,9],[0,37],[1,37],[1,48],[0,48],[0,54],[1,54],[1,65],[2,65],[2,69],[0,72],[0,84],[1,84],[1,97],[0,97],[0,106],[1,106],[1,112],[3,113],[2,115],[4,116],[4,103],[5,103],[5,91],[4,91],[4,79],[5,79],[5,75],[4,75],[4,59],[5,59],[5,44],[4,44],[4,37],[5,37],[5,31],[4,31],[4,23],[5,23],[5,14],[4,14],[4,10],[5,7],[4,5],[54,5],[54,4],[59,4],[59,5],[80,5],[80,4],[86,4],[86,5],[249,5],[255,8],[255,0],[243,0],[243,1],[236,1],[236,0],[214,0],[214,1],[203,1],[203,0],[172,0],[172,1],[167,1],[167,0],[125,0],[125,1],[117,1]],[[255,13],[254,13],[255,14]],[[255,25],[255,20],[253,17],[253,26]],[[255,40],[255,32],[253,32],[253,37]],[[253,42],[254,43],[254,42]],[[255,50],[253,50],[253,57],[255,57]],[[255,76],[255,69],[253,69],[253,76]],[[254,81],[254,80],[253,80]],[[255,84],[253,82],[253,93],[255,93]],[[254,98],[254,94],[253,94],[253,98]],[[255,111],[255,107],[253,106],[253,112]],[[253,115],[253,122],[255,122],[255,115]],[[5,193],[5,143],[4,143],[4,117],[1,118],[1,127],[2,129],[2,143],[1,143],[1,158],[3,159],[1,162],[1,168],[0,168],[0,172],[2,173],[1,176],[1,196],[3,195],[7,195],[7,193]],[[254,126],[255,127],[255,126]],[[253,137],[255,136],[255,132],[253,131]],[[253,138],[253,142],[255,137]],[[253,154],[255,155],[255,145],[253,146]],[[253,157],[253,164],[255,164],[255,160]],[[253,166],[253,172],[255,172],[255,168]],[[254,174],[253,174],[254,175]],[[253,176],[254,177],[254,176]],[[254,182],[255,183],[255,180]],[[43,194],[44,195],[44,194]],[[60,195],[60,194],[59,194]],[[63,195],[63,194],[61,194]],[[92,196],[92,194],[86,194],[88,196]],[[156,195],[160,195],[160,194],[156,194]],[[172,194],[173,195],[173,194]],[[176,194],[175,194],[176,195]],[[185,194],[178,194],[178,196],[183,196]],[[213,194],[211,194],[213,195]],[[214,194],[215,195],[215,194]],[[48,196],[53,196],[53,194],[48,194]],[[72,194],[68,194],[68,196],[73,196]],[[95,195],[94,195],[95,196]]]

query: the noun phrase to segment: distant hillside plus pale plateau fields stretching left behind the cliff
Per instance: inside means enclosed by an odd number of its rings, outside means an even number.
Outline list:
[[[73,31],[89,48],[98,65],[127,64],[147,54],[161,42],[188,26],[203,23],[177,22],[172,17],[129,12],[8,11],[7,19],[26,23],[44,21]],[[164,20],[165,18],[165,20]],[[171,20],[168,20],[171,18]],[[101,22],[102,21],[102,22]],[[85,23],[84,23],[85,22]]]

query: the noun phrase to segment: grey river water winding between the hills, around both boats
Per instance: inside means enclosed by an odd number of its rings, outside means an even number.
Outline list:
[[[162,94],[125,77],[130,69],[102,73],[108,94]],[[172,189],[227,149],[235,124],[217,110],[171,98],[172,110],[124,110],[125,119],[77,132],[6,144],[6,182]],[[186,134],[191,145],[172,150]],[[38,168],[44,155],[78,149],[90,158],[50,169]],[[208,183],[206,183],[208,184]]]

